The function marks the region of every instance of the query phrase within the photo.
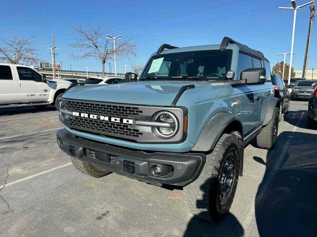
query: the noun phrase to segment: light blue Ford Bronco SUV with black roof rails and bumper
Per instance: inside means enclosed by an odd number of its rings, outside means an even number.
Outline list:
[[[268,60],[227,37],[217,45],[163,44],[139,79],[125,79],[63,94],[60,149],[96,178],[114,172],[183,187],[194,214],[221,220],[242,175],[244,147],[254,139],[271,149],[277,137]]]

